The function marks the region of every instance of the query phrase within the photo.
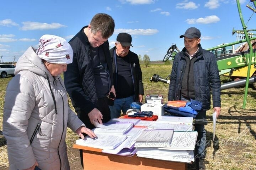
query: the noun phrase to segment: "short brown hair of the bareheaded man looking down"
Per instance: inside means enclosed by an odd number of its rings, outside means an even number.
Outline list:
[[[106,13],[97,13],[91,20],[91,32],[101,32],[102,38],[108,39],[114,33],[114,19]]]

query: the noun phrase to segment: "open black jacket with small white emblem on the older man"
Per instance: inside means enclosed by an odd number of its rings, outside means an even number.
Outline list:
[[[112,67],[113,67],[113,77],[114,77],[114,86],[117,86],[117,72],[116,72],[116,60],[114,59],[114,50],[116,47],[110,49],[110,55],[112,58]],[[138,55],[134,52],[128,52],[130,68],[132,71],[132,78],[133,78],[133,86],[134,86],[134,101],[139,101],[139,95],[144,95],[144,87],[142,82],[142,70],[139,64]]]

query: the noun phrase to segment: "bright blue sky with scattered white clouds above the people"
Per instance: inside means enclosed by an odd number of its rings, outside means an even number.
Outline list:
[[[244,22],[247,29],[256,29],[247,4],[250,0],[240,0]],[[129,33],[130,50],[151,61],[162,60],[173,44],[181,50],[179,36],[189,27],[201,30],[204,49],[234,42],[232,29],[242,30],[235,0],[8,0],[1,2],[0,57],[17,61],[29,46],[37,47],[44,34],[69,41],[96,13],[107,13],[115,21],[111,47],[118,33]]]

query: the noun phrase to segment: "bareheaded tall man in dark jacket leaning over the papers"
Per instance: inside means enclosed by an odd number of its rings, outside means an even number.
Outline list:
[[[114,32],[114,20],[105,13],[96,14],[70,41],[74,56],[64,73],[64,83],[78,117],[87,128],[110,120],[108,95],[113,86],[108,38]],[[82,152],[80,150],[81,163]]]

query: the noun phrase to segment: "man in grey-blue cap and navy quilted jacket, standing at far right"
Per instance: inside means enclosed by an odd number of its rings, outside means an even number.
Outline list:
[[[172,65],[168,101],[191,99],[202,102],[202,110],[197,119],[206,119],[210,109],[210,91],[212,91],[213,110],[220,115],[220,77],[217,61],[213,53],[202,49],[199,29],[188,28],[184,37],[183,50],[175,55]],[[198,132],[195,158],[198,169],[206,169],[204,158],[206,152],[206,130],[204,125],[195,125]],[[199,161],[198,161],[199,159]],[[198,163],[199,162],[199,163]]]

